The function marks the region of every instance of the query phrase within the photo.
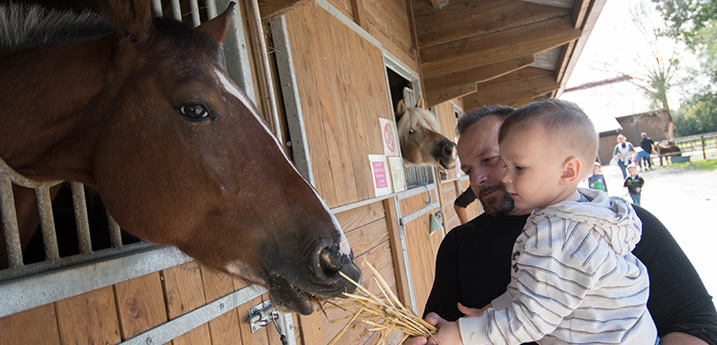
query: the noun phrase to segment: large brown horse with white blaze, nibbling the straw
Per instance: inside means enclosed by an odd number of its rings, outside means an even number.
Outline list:
[[[313,312],[360,279],[336,219],[219,59],[233,4],[197,29],[109,1],[115,33],[0,52],[0,156],[94,186],[130,233]]]

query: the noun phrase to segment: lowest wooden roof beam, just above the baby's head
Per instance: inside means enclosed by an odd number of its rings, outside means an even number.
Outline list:
[[[555,76],[519,80],[510,83],[481,88],[463,98],[467,109],[482,105],[504,104],[518,99],[537,97],[560,87]]]

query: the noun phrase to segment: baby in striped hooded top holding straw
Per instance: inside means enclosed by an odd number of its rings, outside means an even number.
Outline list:
[[[513,246],[507,291],[439,323],[436,343],[658,342],[647,268],[631,253],[642,222],[623,199],[578,188],[597,153],[590,119],[573,103],[537,101],[508,115],[498,142],[506,191],[533,211]]]

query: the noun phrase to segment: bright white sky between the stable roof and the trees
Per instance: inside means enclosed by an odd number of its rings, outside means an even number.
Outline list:
[[[643,25],[633,20],[638,8],[644,8],[647,15]],[[648,38],[638,27],[665,25],[662,17],[654,9],[650,0],[610,0],[607,1],[590,34],[588,41],[578,58],[572,74],[568,78],[566,89],[588,82],[595,82],[619,76],[621,73],[644,75],[646,66],[653,61]],[[663,39],[655,45],[659,54],[670,57],[680,52],[686,57],[684,47],[671,40]],[[683,60],[681,60],[683,61]],[[676,88],[675,88],[676,89]],[[679,90],[669,96],[671,108],[677,108],[682,95]],[[616,116],[630,115],[650,110],[650,102],[644,92],[630,82],[620,82],[595,87],[588,90],[561,94],[558,98],[577,103],[593,120],[599,132],[620,128]]]

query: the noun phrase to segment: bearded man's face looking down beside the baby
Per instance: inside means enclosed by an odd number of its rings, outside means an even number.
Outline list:
[[[461,135],[456,146],[461,170],[470,178],[471,188],[486,212],[524,214],[514,208],[513,199],[501,182],[505,164],[498,155],[498,129],[502,123],[499,116],[486,116]]]

